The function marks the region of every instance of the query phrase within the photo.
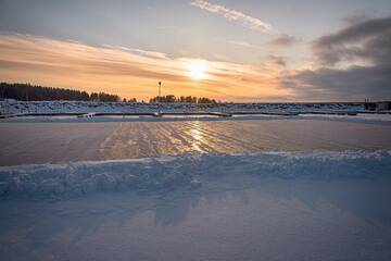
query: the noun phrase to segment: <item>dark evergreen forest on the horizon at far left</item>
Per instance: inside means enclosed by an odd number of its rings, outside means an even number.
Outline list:
[[[76,100],[76,101],[102,101],[116,102],[119,96],[108,95],[104,92],[92,92],[62,89],[53,87],[42,87],[30,84],[0,84],[0,98],[15,99],[22,101],[43,101],[43,100]]]

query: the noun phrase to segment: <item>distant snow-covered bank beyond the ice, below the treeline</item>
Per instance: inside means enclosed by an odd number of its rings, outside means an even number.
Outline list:
[[[0,101],[3,113],[151,113],[164,112],[327,112],[364,111],[363,103],[131,103],[87,101]]]

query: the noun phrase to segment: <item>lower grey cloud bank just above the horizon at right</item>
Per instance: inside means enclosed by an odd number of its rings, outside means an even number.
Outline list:
[[[354,66],[349,70],[304,71],[283,78],[306,100],[360,101],[391,99],[391,66]]]

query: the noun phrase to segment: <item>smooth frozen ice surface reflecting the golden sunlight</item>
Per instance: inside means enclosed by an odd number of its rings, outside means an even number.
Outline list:
[[[389,115],[391,117],[391,115]],[[391,149],[390,122],[330,120],[0,123],[0,165],[181,153]]]

